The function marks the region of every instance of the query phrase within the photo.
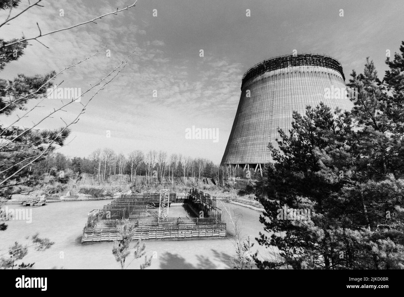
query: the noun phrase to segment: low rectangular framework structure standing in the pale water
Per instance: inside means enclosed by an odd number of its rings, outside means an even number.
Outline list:
[[[166,205],[163,209],[168,210],[171,197],[177,195],[172,196],[166,190],[160,193],[160,197],[159,204]],[[198,218],[168,218],[161,215],[164,210],[160,209],[158,218],[144,218],[139,209],[147,205],[145,197],[141,194],[122,195],[103,209],[94,209],[88,213],[82,243],[119,240],[119,230],[128,220],[135,227],[133,240],[226,236],[226,223],[221,221],[221,209],[216,207],[215,197],[192,188],[184,199],[185,203],[197,215],[199,211],[203,211],[204,215],[198,215]]]

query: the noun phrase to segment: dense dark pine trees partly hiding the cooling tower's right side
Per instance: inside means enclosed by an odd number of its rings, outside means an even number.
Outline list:
[[[404,43],[403,43],[404,45]],[[324,104],[293,114],[280,130],[277,162],[257,185],[265,208],[257,241],[277,247],[282,261],[255,257],[259,268],[404,268],[404,47],[386,63],[383,82],[372,61],[351,74],[358,89],[351,112]],[[286,207],[286,208],[285,208]],[[280,216],[302,209],[309,219]],[[290,213],[288,213],[290,214]]]

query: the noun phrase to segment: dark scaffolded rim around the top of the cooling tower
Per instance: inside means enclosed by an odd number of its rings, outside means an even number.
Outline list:
[[[305,57],[306,59],[301,59],[302,57]],[[248,79],[256,75],[260,75],[262,73],[271,70],[287,68],[288,66],[302,66],[302,65],[323,66],[330,69],[334,69],[339,73],[341,73],[345,81],[345,76],[342,70],[341,62],[332,56],[328,56],[326,54],[314,54],[314,53],[301,53],[296,55],[285,54],[282,56],[275,56],[269,59],[265,59],[255,64],[254,66],[250,67],[242,77],[241,88]]]

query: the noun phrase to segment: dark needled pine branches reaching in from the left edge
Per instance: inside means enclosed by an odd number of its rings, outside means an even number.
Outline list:
[[[2,1],[0,10],[15,8],[19,0]],[[9,63],[17,61],[28,45],[27,41],[15,42],[0,39],[0,71]],[[46,90],[52,84],[48,82],[55,75],[51,71],[45,75],[17,75],[11,80],[0,79],[0,116],[8,116],[17,110],[26,110],[30,100],[46,96]],[[8,198],[23,188],[38,186],[42,174],[33,167],[46,158],[42,153],[53,151],[62,146],[69,135],[69,129],[34,130],[12,125],[4,127],[0,124],[0,197]],[[42,156],[40,156],[42,155]],[[39,157],[40,156],[40,157]],[[31,165],[29,162],[35,160]],[[1,202],[1,201],[0,201]],[[1,230],[1,228],[0,228]]]

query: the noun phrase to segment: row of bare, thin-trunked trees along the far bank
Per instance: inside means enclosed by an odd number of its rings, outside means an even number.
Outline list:
[[[72,179],[80,178],[81,174],[93,174],[100,183],[107,182],[111,175],[127,174],[130,182],[136,176],[145,176],[146,182],[174,183],[174,178],[199,180],[202,177],[227,179],[227,170],[215,165],[213,161],[202,158],[185,157],[181,154],[167,155],[163,151],[143,153],[135,150],[128,155],[117,154],[110,148],[97,149],[89,157],[67,157],[62,153],[53,153],[37,164],[40,172],[65,171]],[[73,172],[73,174],[72,174]],[[122,180],[121,180],[122,181]]]

